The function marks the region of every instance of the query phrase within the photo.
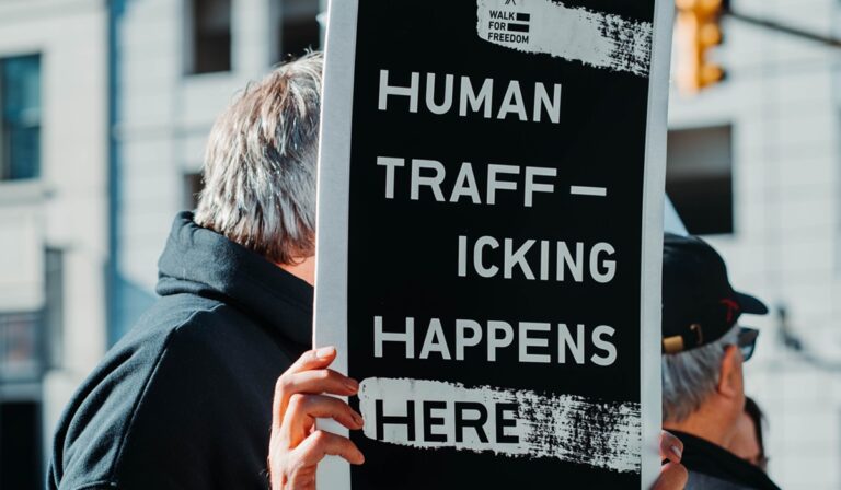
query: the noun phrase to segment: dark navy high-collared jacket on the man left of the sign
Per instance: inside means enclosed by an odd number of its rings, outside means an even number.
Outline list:
[[[277,377],[311,343],[312,288],[175,219],[162,296],[66,408],[49,489],[265,489]]]

